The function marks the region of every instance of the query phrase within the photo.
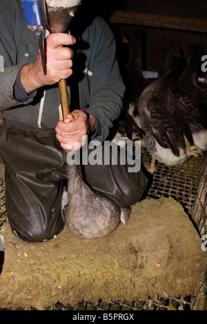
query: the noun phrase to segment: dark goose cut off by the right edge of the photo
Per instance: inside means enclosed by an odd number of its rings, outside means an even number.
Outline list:
[[[205,151],[207,150],[207,88],[199,86],[197,81],[201,57],[201,46],[190,45],[187,66],[179,77],[175,94],[184,105],[195,145]]]

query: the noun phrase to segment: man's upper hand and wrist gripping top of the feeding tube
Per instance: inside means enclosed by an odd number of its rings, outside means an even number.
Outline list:
[[[44,44],[46,56],[46,75],[43,74],[41,54],[37,55],[36,61],[23,66],[21,70],[21,84],[27,93],[30,93],[43,85],[52,85],[61,79],[68,79],[72,74],[73,52],[68,47],[72,45],[75,37],[66,33],[50,34]]]

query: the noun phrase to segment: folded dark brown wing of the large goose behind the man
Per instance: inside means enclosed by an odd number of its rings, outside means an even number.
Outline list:
[[[179,156],[179,148],[186,148],[184,135],[193,143],[184,108],[172,94],[169,88],[150,97],[145,109],[140,109],[144,128],[161,145],[170,148],[173,154]]]

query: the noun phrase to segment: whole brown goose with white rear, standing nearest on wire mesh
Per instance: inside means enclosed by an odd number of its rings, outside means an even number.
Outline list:
[[[184,107],[175,97],[175,86],[183,70],[181,57],[174,57],[172,70],[150,83],[139,99],[144,143],[152,156],[151,165],[145,165],[150,173],[156,170],[156,159],[165,165],[177,165],[197,151]]]

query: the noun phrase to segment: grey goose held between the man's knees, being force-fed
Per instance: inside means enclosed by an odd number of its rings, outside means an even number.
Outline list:
[[[68,153],[71,154],[71,153]],[[84,181],[80,165],[67,165],[67,203],[63,203],[63,218],[70,231],[82,238],[95,239],[106,236],[126,223],[130,207],[120,208],[117,203],[92,190]]]

